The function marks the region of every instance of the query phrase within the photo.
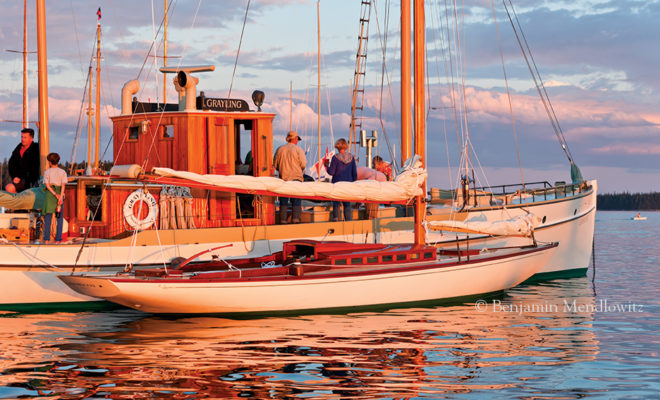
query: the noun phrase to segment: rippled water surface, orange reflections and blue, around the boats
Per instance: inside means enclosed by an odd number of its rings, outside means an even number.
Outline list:
[[[0,398],[660,397],[660,213],[485,304],[257,320],[0,316]]]

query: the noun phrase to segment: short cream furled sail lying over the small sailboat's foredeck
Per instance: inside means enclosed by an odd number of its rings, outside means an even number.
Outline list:
[[[541,224],[541,218],[529,213],[502,221],[427,221],[432,230],[485,233],[487,235],[531,237],[534,228]]]

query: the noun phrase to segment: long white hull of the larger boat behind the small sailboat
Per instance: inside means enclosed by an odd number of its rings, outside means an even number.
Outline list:
[[[569,197],[563,200],[539,201],[531,204],[510,206],[507,209],[476,209],[469,211],[467,218],[479,220],[497,221],[508,219],[512,216],[522,215],[524,210],[530,211],[539,217],[546,217],[543,225],[536,230],[536,239],[543,242],[559,242],[559,247],[552,258],[539,271],[543,274],[560,275],[562,271],[586,270],[591,257],[592,241],[594,234],[594,223],[596,215],[596,181],[589,184],[594,188],[592,192],[584,196]],[[431,216],[430,218],[433,218]],[[392,221],[392,223],[388,223]],[[401,223],[394,222],[401,221]],[[364,221],[362,221],[364,222]],[[308,238],[321,240],[324,237],[329,240],[342,240],[354,243],[406,243],[412,242],[413,236],[409,229],[411,224],[403,219],[382,220],[374,224],[375,229],[384,227],[375,236],[374,228],[356,228],[360,222],[352,223],[319,223],[309,225],[296,225],[282,227],[273,226],[266,228],[258,227],[254,232],[277,233],[278,229],[289,229],[288,233],[279,235],[277,239],[257,239],[243,241],[242,238],[253,237],[252,232],[244,234],[240,229],[235,229],[232,234],[233,240],[204,241],[208,238],[217,237],[215,232],[223,228],[213,230],[213,234],[198,235],[196,240],[189,240],[188,244],[167,244],[165,234],[160,234],[158,241],[164,242],[158,245],[157,240],[150,240],[154,231],[141,232],[138,236],[138,245],[131,246],[130,238],[120,241],[99,241],[90,243],[83,249],[78,265],[85,268],[85,272],[99,274],[114,273],[120,271],[124,266],[132,262],[136,266],[153,266],[167,263],[175,257],[189,257],[192,254],[207,250],[211,247],[232,244],[232,247],[223,249],[221,256],[236,258],[245,256],[263,256],[282,249],[282,243],[292,239]],[[390,228],[390,225],[393,227]],[[308,229],[309,227],[309,229]],[[334,228],[335,234],[327,235],[328,229]],[[228,236],[228,235],[225,235]],[[143,238],[143,239],[140,239]],[[176,239],[176,238],[175,238]],[[454,233],[434,233],[427,236],[429,243],[450,242],[456,239]],[[478,236],[470,236],[471,243],[483,245],[476,239]],[[197,242],[197,243],[195,243]],[[484,239],[488,246],[517,246],[528,244],[528,239],[488,238]],[[156,243],[156,244],[149,244]],[[49,303],[49,302],[79,302],[92,300],[89,297],[75,293],[62,282],[56,275],[62,273],[50,267],[58,266],[65,271],[70,271],[76,259],[80,245],[78,244],[50,244],[50,245],[13,245],[0,244],[2,260],[0,260],[0,307],[10,304],[27,303]],[[209,259],[207,256],[206,259]],[[204,260],[205,258],[202,258]],[[66,273],[66,272],[65,272]]]

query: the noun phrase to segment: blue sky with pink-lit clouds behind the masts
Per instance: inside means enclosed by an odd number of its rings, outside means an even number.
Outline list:
[[[275,144],[290,124],[303,137],[309,162],[318,148],[317,2],[304,0],[168,0],[170,66],[215,65],[200,73],[207,97],[266,93],[264,111],[277,114]],[[321,147],[347,137],[361,2],[321,0]],[[363,128],[378,132],[374,149],[398,160],[400,131],[400,3],[372,7],[362,103]],[[478,184],[569,181],[570,166],[519,48],[503,2],[426,2],[427,161],[434,187],[459,176],[469,134]],[[506,0],[575,163],[601,193],[660,191],[660,0]],[[513,9],[511,8],[513,5]],[[0,46],[21,50],[23,4],[2,2]],[[162,101],[164,0],[47,2],[51,151],[63,160],[86,156],[81,100],[102,8],[102,159],[112,158],[109,116],[121,108],[121,88],[140,80],[142,101]],[[28,1],[28,50],[36,50],[34,1]],[[246,18],[243,30],[243,21]],[[157,33],[155,35],[155,33]],[[241,41],[242,33],[242,41]],[[524,39],[522,35],[524,34]],[[154,41],[154,36],[156,40]],[[240,44],[240,53],[237,50]],[[29,56],[30,119],[37,117],[37,58]],[[159,66],[159,65],[158,65]],[[235,67],[235,68],[234,68]],[[22,116],[22,58],[0,53],[0,120]],[[506,77],[506,79],[505,79]],[[290,95],[292,88],[292,95]],[[452,90],[453,89],[453,90]],[[167,97],[176,96],[168,79]],[[293,113],[290,113],[291,98]],[[76,132],[83,136],[76,146]],[[19,142],[20,125],[0,122],[0,159]],[[389,145],[388,145],[389,143]],[[358,152],[365,163],[364,149]],[[521,172],[522,167],[522,172]]]

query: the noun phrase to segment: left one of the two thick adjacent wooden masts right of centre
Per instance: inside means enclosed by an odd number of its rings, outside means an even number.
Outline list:
[[[411,85],[410,0],[401,0],[401,165],[412,155]]]

